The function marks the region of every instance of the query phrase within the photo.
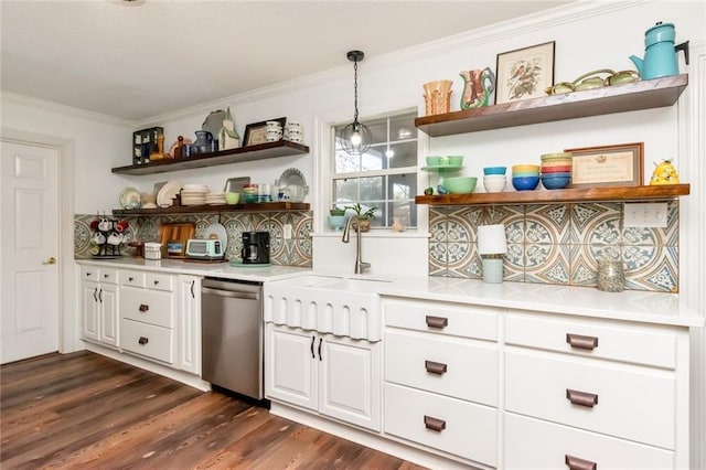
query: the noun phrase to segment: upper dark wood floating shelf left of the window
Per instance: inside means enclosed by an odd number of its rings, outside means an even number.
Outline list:
[[[242,163],[245,161],[268,158],[288,157],[309,153],[309,147],[301,143],[279,140],[277,142],[258,143],[257,146],[239,147],[232,150],[221,150],[211,153],[200,153],[180,159],[156,160],[145,164],[130,164],[113,169],[120,174],[153,174],[168,171],[190,170],[193,168],[214,167],[218,164]]]

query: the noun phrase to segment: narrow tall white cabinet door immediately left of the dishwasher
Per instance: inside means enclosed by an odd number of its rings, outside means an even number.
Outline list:
[[[201,278],[179,276],[179,368],[201,374]]]

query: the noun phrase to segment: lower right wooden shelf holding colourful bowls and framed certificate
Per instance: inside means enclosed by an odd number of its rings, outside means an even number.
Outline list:
[[[473,204],[554,204],[588,201],[649,201],[670,200],[688,195],[689,184],[662,184],[653,186],[605,186],[566,190],[511,191],[503,193],[471,193],[418,195],[417,204],[473,205]]]

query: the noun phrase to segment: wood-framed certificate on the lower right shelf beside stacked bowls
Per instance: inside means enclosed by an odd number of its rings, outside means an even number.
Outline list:
[[[573,156],[571,188],[641,186],[643,142],[566,149]]]

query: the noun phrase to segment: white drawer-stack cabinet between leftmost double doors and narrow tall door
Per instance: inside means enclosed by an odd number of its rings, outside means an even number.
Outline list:
[[[125,270],[120,277],[120,345],[171,366],[175,362],[176,276]]]

